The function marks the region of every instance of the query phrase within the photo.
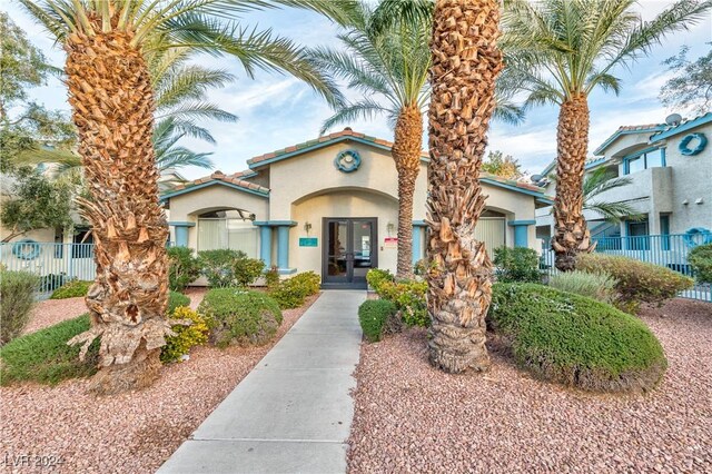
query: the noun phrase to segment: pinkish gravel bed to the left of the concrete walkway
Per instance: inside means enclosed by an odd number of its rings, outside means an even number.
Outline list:
[[[275,342],[317,297],[283,312]],[[190,361],[165,366],[154,386],[120,396],[89,395],[87,381],[78,379],[56,387],[0,387],[0,468],[18,473],[155,472],[273,345],[194,348]],[[30,456],[31,466],[21,466],[23,455]],[[41,460],[53,464],[53,471],[34,465]]]

